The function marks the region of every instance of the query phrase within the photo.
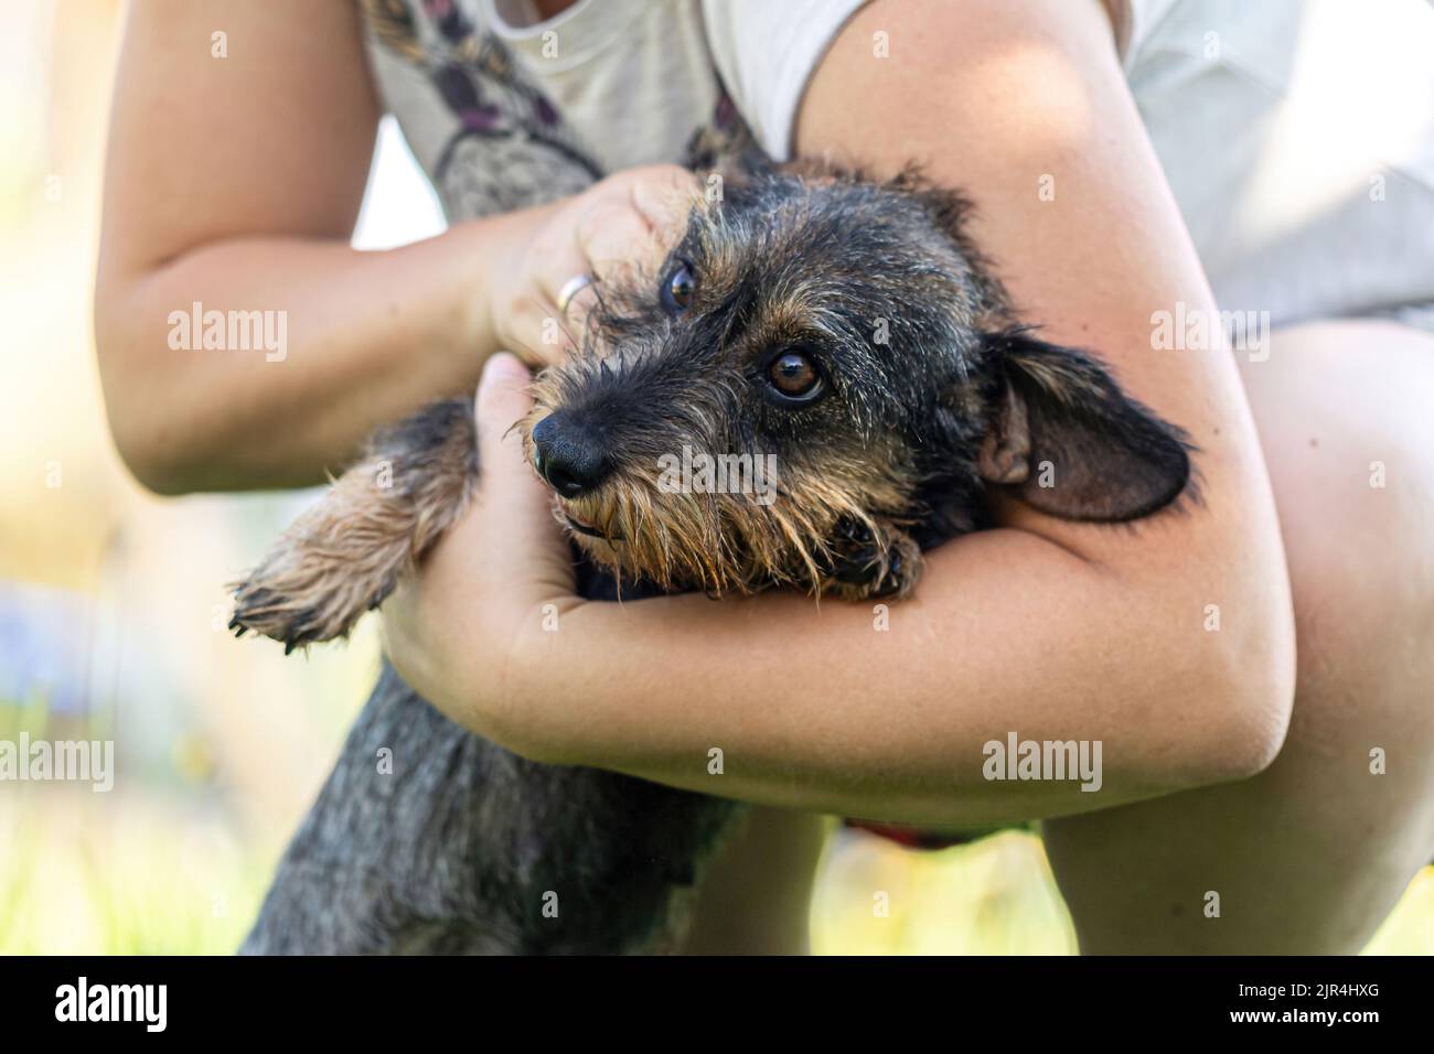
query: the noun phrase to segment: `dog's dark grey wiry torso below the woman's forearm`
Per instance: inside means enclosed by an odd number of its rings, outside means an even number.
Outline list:
[[[391,774],[379,774],[381,751]],[[673,946],[741,806],[528,761],[384,667],[244,951],[584,954]]]

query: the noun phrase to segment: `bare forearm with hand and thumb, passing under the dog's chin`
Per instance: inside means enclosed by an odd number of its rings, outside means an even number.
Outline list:
[[[1289,595],[1268,574],[1281,551],[1255,496],[1222,498],[1220,516],[1187,499],[1058,536],[998,499],[1010,526],[932,551],[916,592],[889,607],[780,591],[587,602],[508,427],[532,406],[512,374],[490,369],[479,390],[473,506],[384,605],[404,678],[511,750],[760,803],[968,825],[1238,779],[1282,743]],[[1246,456],[1213,439],[1207,475],[1242,475]],[[1043,754],[1071,744],[1098,769],[988,779],[989,744],[1012,737]]]

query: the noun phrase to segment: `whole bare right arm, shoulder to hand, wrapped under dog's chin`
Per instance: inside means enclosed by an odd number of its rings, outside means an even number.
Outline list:
[[[891,59],[872,56],[876,30]],[[1213,303],[1100,7],[863,9],[802,106],[800,151],[825,149],[888,169],[925,158],[965,188],[1027,315],[1098,350],[1192,433],[1202,503],[1133,529],[1007,503],[1001,529],[931,554],[888,631],[868,607],[796,595],[584,604],[543,528],[546,499],[503,442],[528,403],[495,366],[476,509],[389,609],[400,670],[450,716],[542,760],[888,820],[1054,816],[1266,766],[1293,693],[1269,483],[1226,350],[1152,350],[1152,311]],[[1043,175],[1054,201],[1038,195]],[[1008,733],[1100,740],[1101,792],[984,780],[984,744]]]

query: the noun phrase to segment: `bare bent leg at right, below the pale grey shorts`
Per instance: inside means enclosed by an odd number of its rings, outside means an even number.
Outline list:
[[[1434,848],[1434,337],[1305,326],[1242,373],[1293,584],[1289,736],[1253,779],[1045,825],[1086,952],[1355,952]]]

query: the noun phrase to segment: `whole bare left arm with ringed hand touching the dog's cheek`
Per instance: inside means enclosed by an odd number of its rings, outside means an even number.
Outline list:
[[[130,9],[95,337],[115,440],[155,490],[320,482],[376,426],[472,390],[496,347],[562,353],[566,340],[541,336],[556,290],[591,268],[595,241],[634,237],[642,208],[665,205],[634,199],[675,178],[647,169],[400,250],[351,250],[379,116],[357,9]],[[172,348],[171,313],[195,303],[275,313],[285,346]]]

